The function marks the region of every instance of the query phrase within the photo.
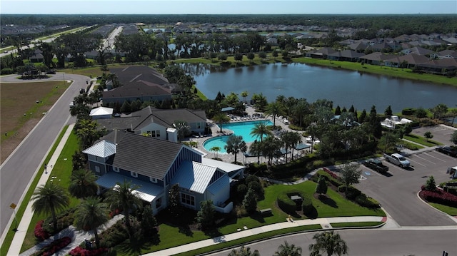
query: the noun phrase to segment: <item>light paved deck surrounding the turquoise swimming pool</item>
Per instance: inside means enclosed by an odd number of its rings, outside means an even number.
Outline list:
[[[258,113],[256,111],[254,111],[254,109],[251,106],[246,107],[246,112],[248,113],[248,116],[253,116],[254,113]],[[241,123],[241,122],[262,121],[262,120],[268,120],[268,121],[273,122],[273,118],[271,116],[268,116],[265,118],[254,118],[254,119],[253,118],[244,119],[244,118],[240,117],[239,121],[238,121],[238,119],[236,119],[236,120],[230,121],[230,123]],[[281,126],[282,130],[293,131],[288,128],[288,125],[284,124],[282,122],[282,120],[279,120],[278,118],[276,118],[276,126]],[[196,141],[198,143],[196,149],[206,153],[206,155],[204,156],[205,158],[214,158],[215,157],[214,152],[209,152],[208,150],[206,150],[203,147],[203,144],[206,140],[209,140],[210,138],[222,136],[222,135],[231,135],[231,133],[232,133],[232,130],[226,130],[226,129],[222,129],[222,133],[221,133],[221,128],[219,128],[219,126],[216,125],[216,123],[210,123],[210,128],[211,128],[211,135],[206,135],[206,137],[199,137],[199,138],[191,137],[191,138],[189,138],[189,140],[187,140],[187,141]],[[306,143],[306,140],[303,136],[302,136],[302,143]],[[248,145],[248,147],[251,145],[251,143],[246,143],[246,144]],[[306,153],[306,150],[300,150],[301,152],[297,152],[297,151],[298,150],[294,150],[294,155],[296,155],[297,153]],[[224,162],[226,162],[226,163],[231,163],[235,160],[235,156],[233,154],[218,153],[217,156],[218,156],[218,158],[221,158],[222,160],[224,160]],[[246,164],[257,162],[257,158],[244,158],[242,153],[238,153],[236,160],[238,162],[242,162],[242,163],[246,163]],[[266,158],[260,158],[260,160],[261,160],[261,163],[266,162]]]

